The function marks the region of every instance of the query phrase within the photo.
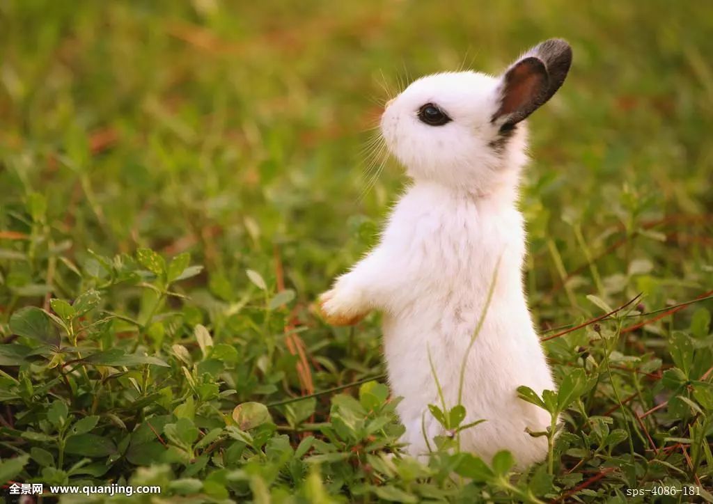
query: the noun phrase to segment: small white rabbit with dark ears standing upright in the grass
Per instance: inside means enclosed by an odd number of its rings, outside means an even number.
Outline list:
[[[446,405],[455,406],[461,363],[495,278],[462,396],[463,424],[486,421],[462,431],[461,449],[486,461],[507,449],[520,467],[546,456],[546,438],[525,428],[545,431],[550,417],[515,391],[520,385],[538,394],[555,389],[523,292],[525,232],[517,200],[527,156],[521,121],[560,88],[571,60],[569,44],[552,39],[499,77],[471,71],[426,76],[390,101],[381,117],[386,145],[413,183],[379,245],[322,294],[321,309],[332,324],[384,312],[389,383],[403,397],[397,411],[411,455],[427,453],[424,437],[442,433],[427,410],[441,402],[429,353]]]

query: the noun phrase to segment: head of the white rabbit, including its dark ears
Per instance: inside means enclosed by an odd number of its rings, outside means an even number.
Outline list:
[[[553,38],[498,77],[419,78],[387,104],[381,133],[414,180],[487,194],[517,177],[526,159],[521,121],[562,86],[571,62],[569,44]]]

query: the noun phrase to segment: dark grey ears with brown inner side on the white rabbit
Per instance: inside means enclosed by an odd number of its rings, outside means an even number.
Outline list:
[[[562,86],[571,63],[572,48],[561,38],[530,49],[502,76],[493,123],[508,127],[528,117]]]

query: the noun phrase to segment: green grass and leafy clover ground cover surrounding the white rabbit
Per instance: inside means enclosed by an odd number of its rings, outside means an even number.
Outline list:
[[[712,25],[694,1],[3,2],[0,480],[711,501]],[[495,73],[550,36],[575,63],[530,120],[521,207],[560,391],[520,395],[562,431],[524,473],[450,438],[391,458],[378,315],[310,308],[404,182],[388,163],[359,197],[365,130],[383,88]]]

